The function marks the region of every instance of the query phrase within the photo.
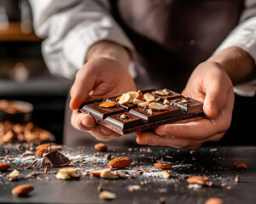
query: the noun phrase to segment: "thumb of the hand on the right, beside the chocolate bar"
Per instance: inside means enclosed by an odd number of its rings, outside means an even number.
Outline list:
[[[213,80],[218,79],[218,80]],[[208,117],[215,118],[224,109],[227,94],[232,88],[230,78],[222,70],[212,72],[204,79],[202,86],[206,93],[203,110]]]

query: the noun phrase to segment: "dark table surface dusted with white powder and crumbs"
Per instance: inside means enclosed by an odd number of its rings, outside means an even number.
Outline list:
[[[26,150],[35,151],[32,144],[0,145],[0,162],[8,162],[10,168],[0,173],[0,203],[158,203],[160,197],[165,203],[205,203],[210,197],[218,197],[224,204],[246,204],[256,201],[256,146],[202,147],[197,150],[177,150],[171,147],[149,146],[108,146],[107,152],[97,152],[93,144],[76,148],[62,147],[62,154],[72,159],[70,166],[81,173],[79,179],[57,180],[58,168],[49,168],[50,173],[41,168],[26,169],[22,164],[32,163],[38,156],[22,156]],[[214,150],[216,149],[217,150]],[[130,167],[118,170],[121,178],[104,179],[90,176],[90,170],[108,167],[104,155],[113,157],[129,156]],[[161,170],[154,167],[157,161],[172,164],[168,170],[172,178],[162,178]],[[237,172],[232,164],[241,161],[247,164],[246,171]],[[20,178],[9,181],[8,174],[20,169]],[[30,173],[38,175],[32,178]],[[87,175],[82,175],[87,173]],[[129,175],[134,178],[128,178]],[[190,176],[205,176],[212,186],[196,188],[187,183]],[[236,175],[240,181],[236,183]],[[25,197],[11,194],[18,184],[32,184],[34,190]],[[102,201],[98,197],[97,186],[116,194],[113,201]],[[129,185],[140,185],[140,190],[130,191]],[[197,186],[198,187],[198,186]]]

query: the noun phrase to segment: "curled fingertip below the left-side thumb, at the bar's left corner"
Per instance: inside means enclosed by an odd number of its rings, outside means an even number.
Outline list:
[[[73,111],[71,116],[71,124],[75,129],[80,131],[90,131],[91,128],[96,126],[96,122],[90,114]]]

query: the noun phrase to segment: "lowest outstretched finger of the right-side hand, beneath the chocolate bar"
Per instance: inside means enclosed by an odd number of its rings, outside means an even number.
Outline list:
[[[201,146],[203,141],[195,139],[181,139],[176,136],[160,136],[152,132],[137,132],[137,144],[172,146],[181,149],[195,149]]]

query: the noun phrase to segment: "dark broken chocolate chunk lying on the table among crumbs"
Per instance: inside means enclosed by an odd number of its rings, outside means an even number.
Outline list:
[[[62,155],[58,150],[52,150],[44,155],[41,167],[65,167],[70,160]]]

